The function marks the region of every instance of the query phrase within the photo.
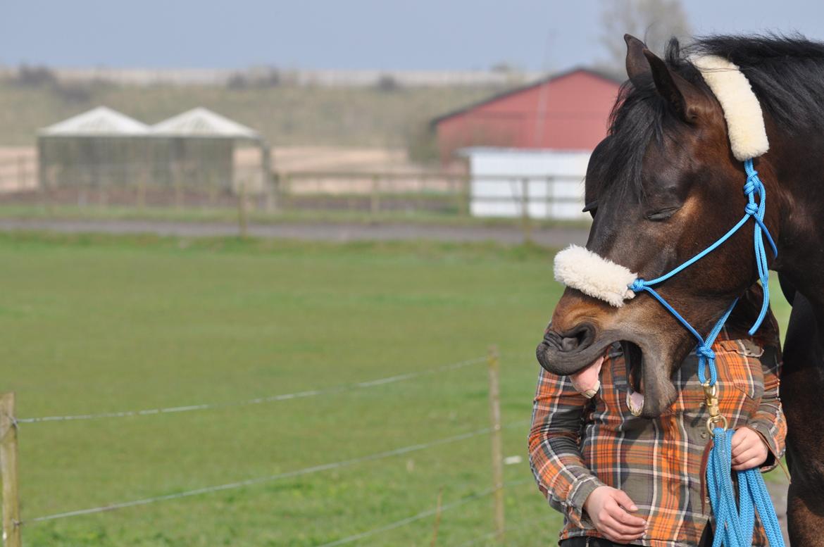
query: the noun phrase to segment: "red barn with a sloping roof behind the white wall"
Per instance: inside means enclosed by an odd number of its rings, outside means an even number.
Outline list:
[[[458,148],[488,146],[592,150],[620,82],[575,68],[433,119],[443,161]]]

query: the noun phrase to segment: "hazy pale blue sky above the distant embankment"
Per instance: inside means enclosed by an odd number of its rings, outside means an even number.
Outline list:
[[[612,0],[620,1],[620,0]],[[697,34],[798,30],[824,2],[685,0]],[[568,68],[602,55],[597,0],[4,2],[0,63],[158,68]],[[616,40],[620,40],[616,36]]]

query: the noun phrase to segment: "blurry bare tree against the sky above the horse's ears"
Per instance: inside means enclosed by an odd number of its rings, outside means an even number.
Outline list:
[[[624,74],[624,35],[644,40],[660,54],[673,36],[684,40],[691,35],[690,22],[681,0],[602,0],[600,42],[606,49],[602,68]]]

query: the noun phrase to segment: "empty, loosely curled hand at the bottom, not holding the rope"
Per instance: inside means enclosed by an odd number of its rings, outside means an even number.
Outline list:
[[[623,490],[609,486],[599,486],[592,490],[583,509],[589,515],[595,529],[607,540],[616,543],[630,543],[638,540],[646,531],[647,521],[630,515],[638,507]]]

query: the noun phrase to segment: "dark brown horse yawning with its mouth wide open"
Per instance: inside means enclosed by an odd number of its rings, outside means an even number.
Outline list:
[[[761,222],[777,251],[766,260],[794,306],[781,383],[789,535],[794,545],[824,546],[824,44],[798,35],[716,35],[683,47],[672,40],[661,58],[633,36],[625,41],[628,80],[584,182],[592,227],[583,252],[601,260],[590,273],[597,277],[599,264],[619,266],[593,283],[614,283],[609,277],[624,270],[643,279],[671,271],[741,218],[742,185],[750,179],[735,147],[751,135],[732,127],[721,100],[737,108],[746,97],[719,99],[697,60],[734,63],[769,139],[768,150],[750,156],[757,156],[752,167],[766,199]],[[709,333],[760,278],[756,253],[752,231],[739,230],[659,284],[658,295],[697,332]],[[536,355],[547,371],[573,375],[609,345],[625,344],[638,414],[656,418],[677,397],[671,377],[695,337],[652,293],[627,291],[621,302],[604,302],[568,286]]]

